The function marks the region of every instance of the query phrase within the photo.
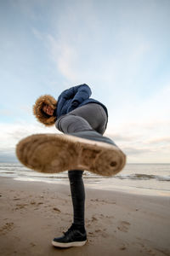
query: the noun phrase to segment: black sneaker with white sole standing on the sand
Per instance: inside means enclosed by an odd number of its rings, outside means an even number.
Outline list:
[[[75,224],[63,233],[64,236],[56,237],[52,241],[54,247],[82,247],[87,241],[86,230],[78,230]]]

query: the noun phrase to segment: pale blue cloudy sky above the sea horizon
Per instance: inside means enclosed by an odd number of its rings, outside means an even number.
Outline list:
[[[88,84],[127,163],[170,163],[169,0],[0,0],[0,161],[33,133],[38,96]]]

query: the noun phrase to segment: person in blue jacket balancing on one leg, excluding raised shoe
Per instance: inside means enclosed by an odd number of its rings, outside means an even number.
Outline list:
[[[54,125],[65,134],[90,132],[103,136],[108,112],[105,105],[90,98],[88,84],[80,84],[64,90],[56,101],[53,96],[40,96],[33,106],[33,113],[46,126]],[[85,190],[82,170],[68,171],[73,205],[73,223],[64,236],[54,238],[55,247],[82,246],[87,241],[84,221]]]

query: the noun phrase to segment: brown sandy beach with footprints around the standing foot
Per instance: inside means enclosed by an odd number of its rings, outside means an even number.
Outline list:
[[[0,255],[170,255],[170,197],[86,188],[83,247],[51,245],[72,223],[68,184],[0,179]]]

